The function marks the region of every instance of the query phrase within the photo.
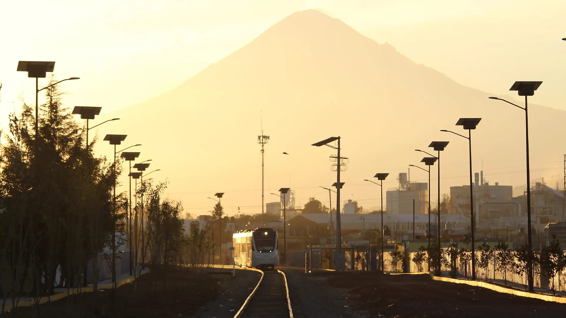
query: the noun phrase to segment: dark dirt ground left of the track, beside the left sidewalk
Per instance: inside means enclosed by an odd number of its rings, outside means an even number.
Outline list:
[[[165,280],[161,276],[163,272],[156,272],[139,277],[135,293],[134,283],[127,283],[115,290],[115,293],[107,289],[41,304],[41,317],[190,317],[204,303],[216,299],[221,294],[222,284],[231,278],[228,275],[211,275],[188,268],[177,268],[168,270]],[[37,307],[14,308],[2,315],[4,317],[38,317]]]

